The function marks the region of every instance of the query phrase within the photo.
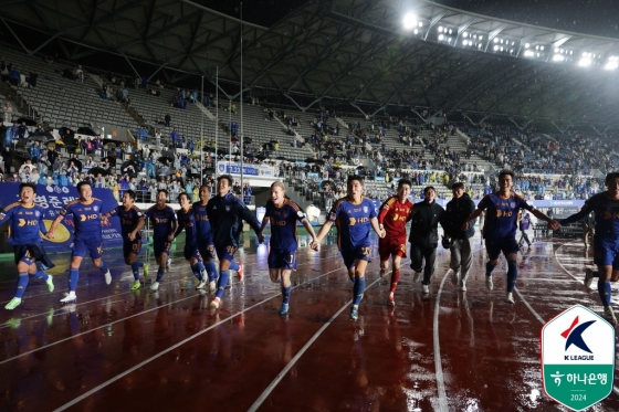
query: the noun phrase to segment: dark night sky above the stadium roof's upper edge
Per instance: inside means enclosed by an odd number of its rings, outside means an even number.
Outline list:
[[[239,17],[239,1],[195,0]],[[243,18],[271,27],[310,0],[245,0]],[[398,0],[399,1],[399,0]],[[577,33],[619,38],[619,0],[434,0],[437,3],[500,19]]]

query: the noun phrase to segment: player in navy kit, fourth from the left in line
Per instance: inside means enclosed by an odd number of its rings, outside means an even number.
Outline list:
[[[146,219],[150,219],[150,224],[153,226],[153,249],[155,250],[155,260],[159,265],[157,278],[153,285],[150,285],[150,290],[157,290],[159,288],[159,284],[166,274],[170,246],[174,241],[174,234],[178,228],[176,213],[172,208],[166,204],[167,201],[168,191],[164,189],[158,190],[157,203],[150,207],[145,214]]]

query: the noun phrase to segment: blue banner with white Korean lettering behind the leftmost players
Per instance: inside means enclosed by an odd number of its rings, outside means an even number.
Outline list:
[[[102,210],[107,213],[118,205],[116,199],[109,189],[93,189],[93,197],[101,199],[105,205]],[[72,200],[78,199],[77,189],[60,186],[36,184],[36,197],[34,202],[45,209],[43,215],[45,228],[50,228],[52,222],[59,215],[64,205]],[[19,183],[0,183],[0,207],[4,208],[11,203],[19,201]],[[43,244],[48,252],[66,252],[73,247],[73,216],[64,219],[55,231],[55,239],[48,240],[43,237]],[[103,244],[104,247],[116,247],[123,245],[120,235],[120,221],[116,218],[109,219],[108,223],[103,225]]]

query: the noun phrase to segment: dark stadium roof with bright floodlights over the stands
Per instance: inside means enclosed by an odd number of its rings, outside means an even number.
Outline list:
[[[619,40],[427,1],[311,0],[269,28],[244,22],[242,42],[238,18],[187,0],[0,0],[0,20],[17,39],[33,29],[45,44],[62,39],[211,82],[219,67],[220,81],[240,83],[242,44],[244,89],[291,101],[460,110],[518,125],[619,123]]]

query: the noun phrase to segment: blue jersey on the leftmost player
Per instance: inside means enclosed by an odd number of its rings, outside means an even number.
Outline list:
[[[41,235],[48,233],[43,224],[45,209],[39,204],[25,207],[21,202],[9,204],[0,213],[0,224],[10,220],[9,243],[12,245],[27,245],[41,243]]]

